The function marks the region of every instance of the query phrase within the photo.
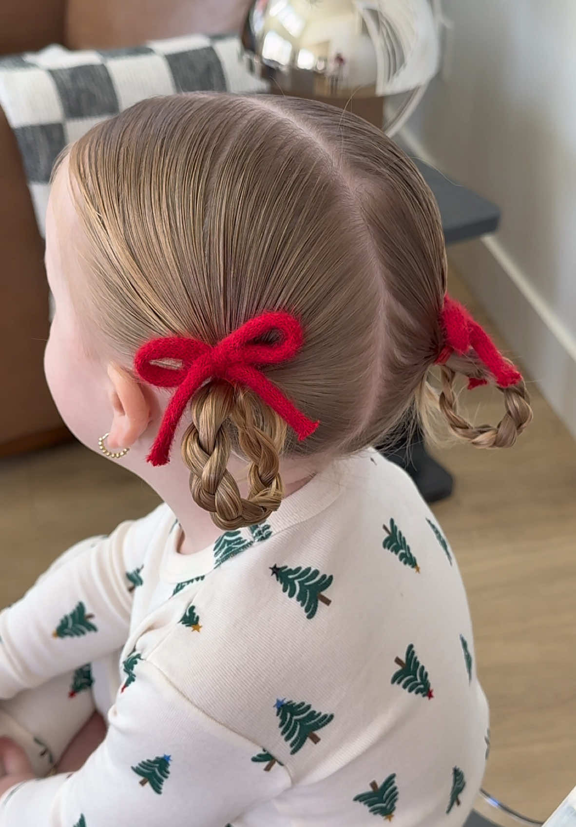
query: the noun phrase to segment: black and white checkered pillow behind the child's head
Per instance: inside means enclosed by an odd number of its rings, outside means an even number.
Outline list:
[[[94,124],[154,95],[266,88],[246,68],[237,37],[193,35],[107,51],[51,45],[0,59],[0,105],[17,137],[42,237],[55,158]]]

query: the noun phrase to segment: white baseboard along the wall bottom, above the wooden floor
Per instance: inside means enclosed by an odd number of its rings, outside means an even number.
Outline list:
[[[437,166],[409,130],[400,143]],[[576,339],[496,236],[449,247],[450,261],[502,331],[542,394],[576,438]]]

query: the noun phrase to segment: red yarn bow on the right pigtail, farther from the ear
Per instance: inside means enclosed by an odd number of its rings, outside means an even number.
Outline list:
[[[465,356],[472,349],[476,351],[499,387],[507,388],[521,381],[521,373],[502,356],[483,327],[474,321],[462,304],[451,299],[448,294],[444,297],[444,308],[440,320],[444,328],[446,343],[436,359],[436,365],[444,365],[454,352]],[[478,385],[486,384],[485,379],[470,379],[468,387],[472,390]]]

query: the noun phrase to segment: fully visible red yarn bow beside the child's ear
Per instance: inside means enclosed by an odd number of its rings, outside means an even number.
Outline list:
[[[266,333],[280,333],[270,344],[257,342]],[[224,379],[232,385],[245,385],[306,439],[317,429],[312,422],[273,385],[258,366],[278,365],[293,359],[302,347],[302,327],[289,313],[263,313],[238,327],[212,347],[190,337],[171,336],[145,342],[136,353],[134,365],[140,378],[160,388],[178,387],[164,413],[158,436],[147,457],[153,466],[169,462],[174,433],[188,403],[208,379]],[[154,365],[153,361],[175,359],[178,370]]]

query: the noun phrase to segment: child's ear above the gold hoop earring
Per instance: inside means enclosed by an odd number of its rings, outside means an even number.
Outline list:
[[[116,448],[129,448],[136,442],[148,428],[151,411],[140,384],[126,370],[111,363],[107,367],[107,374],[113,413],[106,442],[113,451]]]

